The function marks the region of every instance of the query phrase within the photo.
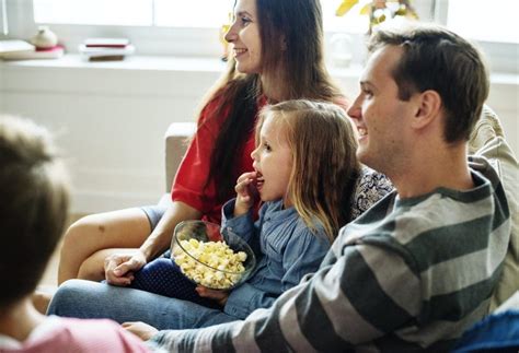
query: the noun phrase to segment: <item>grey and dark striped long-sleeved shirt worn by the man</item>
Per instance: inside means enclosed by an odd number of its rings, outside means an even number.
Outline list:
[[[471,190],[382,199],[273,307],[152,341],[181,352],[449,349],[487,313],[510,235],[495,170],[481,157],[470,165]]]

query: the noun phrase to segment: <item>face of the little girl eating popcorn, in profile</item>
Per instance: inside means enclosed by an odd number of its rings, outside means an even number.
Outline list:
[[[251,153],[257,173],[256,188],[263,201],[282,199],[291,207],[288,184],[292,172],[292,153],[285,138],[285,127],[268,115],[260,131],[260,144]]]

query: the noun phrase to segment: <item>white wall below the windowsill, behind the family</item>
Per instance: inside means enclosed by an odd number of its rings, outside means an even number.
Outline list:
[[[218,59],[134,58],[123,63],[0,63],[0,111],[58,132],[73,181],[73,212],[154,203],[165,190],[163,134],[194,110],[223,70]],[[358,68],[333,71],[350,95]],[[494,77],[489,105],[519,155],[518,80]]]

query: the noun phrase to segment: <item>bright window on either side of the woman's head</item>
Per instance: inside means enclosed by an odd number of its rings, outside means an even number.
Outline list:
[[[14,8],[26,2],[31,11],[23,13],[34,13],[31,19],[23,16],[28,25],[33,28],[38,24],[50,25],[60,38],[67,39],[68,51],[74,51],[89,36],[123,36],[129,37],[141,55],[187,56],[221,54],[220,28],[229,22],[234,3],[233,0],[18,1]],[[341,2],[321,0],[325,31],[366,33],[368,21],[358,16],[358,11],[344,17],[335,16]]]

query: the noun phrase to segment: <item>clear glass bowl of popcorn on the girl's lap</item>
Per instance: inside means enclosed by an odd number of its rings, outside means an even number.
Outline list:
[[[192,282],[212,290],[231,290],[256,266],[249,244],[220,225],[184,221],[176,225],[171,258]]]

